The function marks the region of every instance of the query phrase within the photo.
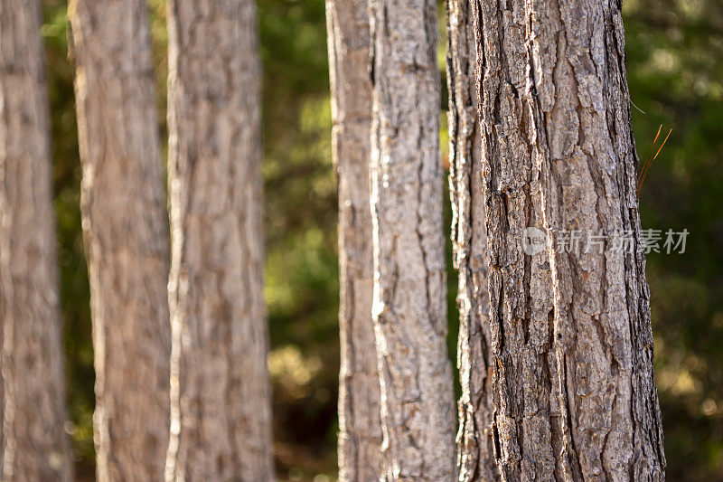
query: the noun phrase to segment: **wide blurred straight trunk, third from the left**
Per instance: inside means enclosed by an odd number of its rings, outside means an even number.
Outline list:
[[[274,478],[252,0],[169,3],[173,325],[166,477]]]

